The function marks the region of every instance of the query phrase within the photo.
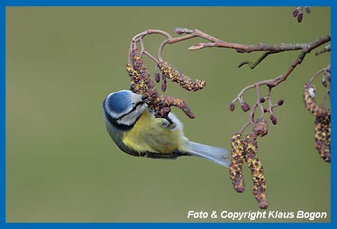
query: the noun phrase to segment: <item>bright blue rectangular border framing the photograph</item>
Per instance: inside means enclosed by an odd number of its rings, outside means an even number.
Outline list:
[[[336,2],[336,1],[335,1]],[[331,33],[334,34],[332,28],[334,28],[334,1],[293,1],[293,0],[283,0],[283,1],[248,1],[248,0],[240,0],[240,1],[232,1],[232,2],[224,2],[220,0],[214,1],[196,1],[196,0],[184,0],[184,1],[134,1],[129,0],[127,2],[117,2],[111,3],[106,0],[3,0],[1,1],[1,53],[2,53],[2,74],[1,78],[1,164],[3,165],[2,176],[1,176],[1,221],[0,228],[224,228],[228,226],[224,225],[224,223],[6,223],[6,6],[331,6]],[[140,5],[141,4],[141,5]],[[331,51],[331,58],[334,59],[335,54]],[[332,60],[332,62],[334,62]],[[334,68],[332,68],[334,69]],[[331,81],[332,87],[334,85],[335,80]],[[331,98],[334,98],[334,91],[331,92]],[[331,99],[331,113],[334,114],[334,99]],[[335,120],[331,119],[331,126],[334,128]],[[331,135],[332,139],[334,139],[334,132]],[[334,140],[331,141],[331,149],[334,151]],[[336,217],[334,202],[336,201],[336,197],[333,195],[335,188],[335,184],[332,182],[336,174],[336,168],[331,167],[331,223],[236,223],[236,228],[335,228],[336,227]],[[233,225],[230,225],[233,226]]]

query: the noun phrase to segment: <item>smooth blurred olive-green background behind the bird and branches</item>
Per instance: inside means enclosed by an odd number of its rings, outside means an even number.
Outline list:
[[[148,28],[198,28],[229,42],[310,42],[330,32],[330,8],[311,8],[301,24],[294,8],[7,8],[6,10],[6,221],[143,222],[228,221],[186,219],[189,210],[257,211],[250,172],[246,192],[234,192],[227,168],[199,158],[135,158],[110,140],[101,101],[129,88],[126,58],[131,37]],[[145,37],[156,53],[161,35]],[[229,111],[246,85],[282,74],[298,51],[268,57],[256,69],[236,65],[261,53],[209,48],[188,51],[196,38],[167,45],[165,60],[206,80],[200,92],[168,83],[196,119],[176,108],[189,139],[230,148],[248,114]],[[330,164],[314,148],[313,116],[302,88],[329,64],[329,53],[306,56],[272,92],[279,123],[258,140],[267,179],[268,210],[327,212]],[[151,73],[154,62],[145,60]],[[322,97],[318,86],[318,97]],[[263,91],[265,92],[265,91]],[[254,90],[247,93],[255,101]],[[245,220],[249,221],[249,220]],[[256,221],[309,221],[263,219]]]

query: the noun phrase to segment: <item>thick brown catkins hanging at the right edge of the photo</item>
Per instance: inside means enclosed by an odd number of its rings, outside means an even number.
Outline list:
[[[324,85],[324,84],[323,84]],[[315,116],[315,148],[320,157],[331,162],[331,112],[319,106],[315,100],[315,85],[306,83],[303,92],[304,105]]]

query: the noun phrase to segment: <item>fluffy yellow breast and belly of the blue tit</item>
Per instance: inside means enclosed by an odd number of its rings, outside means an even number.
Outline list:
[[[181,129],[171,130],[163,127],[163,119],[156,119],[147,108],[131,130],[123,135],[123,142],[129,148],[139,152],[157,152],[170,154],[183,144]]]

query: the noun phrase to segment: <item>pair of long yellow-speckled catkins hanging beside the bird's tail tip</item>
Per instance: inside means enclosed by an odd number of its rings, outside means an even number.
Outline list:
[[[265,122],[263,121],[263,124]],[[262,124],[262,126],[263,126]],[[253,194],[258,201],[258,207],[266,209],[268,207],[267,196],[265,196],[265,177],[263,167],[257,157],[256,135],[248,134],[245,139],[241,134],[236,133],[231,137],[232,161],[229,165],[229,174],[236,192],[245,191],[245,180],[243,179],[243,162],[247,162],[253,176]]]

